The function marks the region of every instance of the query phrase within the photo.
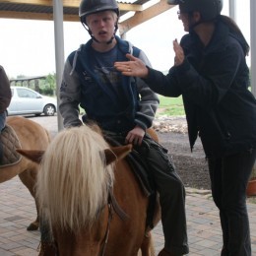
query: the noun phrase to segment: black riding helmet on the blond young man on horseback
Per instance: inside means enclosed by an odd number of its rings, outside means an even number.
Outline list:
[[[119,8],[115,0],[82,0],[79,7],[79,17],[86,22],[86,17],[103,11],[114,11],[119,17]]]

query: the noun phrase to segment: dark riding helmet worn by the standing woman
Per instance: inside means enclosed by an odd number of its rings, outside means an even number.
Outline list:
[[[209,22],[221,15],[223,0],[167,0],[169,5],[179,5],[181,13],[199,12],[201,22]]]

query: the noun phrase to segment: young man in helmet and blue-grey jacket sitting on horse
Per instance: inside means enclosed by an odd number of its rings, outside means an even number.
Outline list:
[[[160,194],[161,222],[165,238],[160,255],[188,253],[185,217],[185,189],[167,150],[146,130],[152,126],[158,96],[141,79],[128,78],[113,64],[127,60],[132,53],[150,66],[146,54],[115,33],[119,8],[115,0],[83,0],[79,9],[81,23],[91,39],[67,58],[60,88],[59,110],[64,127],[96,122],[105,138],[133,144],[148,165]],[[83,122],[79,105],[85,109]]]

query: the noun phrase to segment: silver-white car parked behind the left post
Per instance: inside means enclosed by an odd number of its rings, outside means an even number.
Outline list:
[[[11,87],[11,90],[12,99],[7,115],[54,115],[57,110],[57,100],[54,97],[42,96],[25,87]]]

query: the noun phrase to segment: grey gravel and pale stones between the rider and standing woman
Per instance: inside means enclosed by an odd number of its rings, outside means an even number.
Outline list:
[[[198,139],[191,153],[184,117],[160,117],[154,123],[160,144],[172,157],[176,171],[186,187],[210,190],[208,164]]]

